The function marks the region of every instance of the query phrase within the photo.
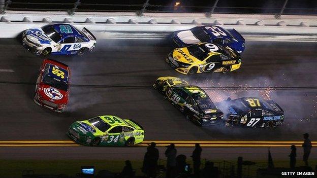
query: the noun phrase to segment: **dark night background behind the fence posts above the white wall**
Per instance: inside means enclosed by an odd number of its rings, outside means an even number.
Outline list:
[[[74,7],[76,0],[56,1],[56,0],[12,0],[8,10],[60,10],[68,11]],[[143,8],[146,0],[126,0],[126,1],[98,1],[98,0],[81,0],[77,11],[131,11],[137,12]],[[179,2],[179,7],[174,5]],[[155,1],[150,0],[146,12],[209,12],[214,5],[215,0],[211,1]],[[284,0],[219,0],[215,13],[251,13],[251,14],[276,14],[280,12]],[[35,5],[33,3],[40,3]],[[58,5],[62,4],[62,5]],[[296,8],[296,9],[294,9]],[[317,14],[317,1],[313,0],[289,0],[283,14]]]

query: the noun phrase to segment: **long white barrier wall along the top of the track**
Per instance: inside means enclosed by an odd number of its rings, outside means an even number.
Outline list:
[[[0,15],[0,38],[14,38],[25,29],[49,23],[72,23],[77,27],[87,27],[97,38],[115,37],[118,36],[117,32],[125,35],[128,32],[132,38],[140,36],[136,32],[155,33],[152,37],[157,37],[163,32],[214,24],[235,28],[244,35],[253,35],[253,39],[254,35],[266,35],[278,40],[292,38],[301,41],[298,35],[305,35],[303,41],[309,39],[315,42],[317,39],[317,16],[283,15],[281,19],[276,19],[274,15],[241,14],[237,17],[236,14],[214,14],[209,18],[198,13],[144,13],[138,17],[129,12],[77,12],[75,16],[70,16],[67,12],[36,11],[7,11],[5,15]]]

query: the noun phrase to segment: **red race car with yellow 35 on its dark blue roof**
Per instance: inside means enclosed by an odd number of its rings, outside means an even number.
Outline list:
[[[70,81],[68,65],[44,59],[36,83],[34,102],[55,112],[63,112],[68,103]]]

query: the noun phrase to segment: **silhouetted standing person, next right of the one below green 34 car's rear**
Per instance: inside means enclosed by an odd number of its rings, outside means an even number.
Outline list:
[[[167,157],[166,178],[174,178],[176,176],[176,154],[175,145],[167,146],[165,156]]]

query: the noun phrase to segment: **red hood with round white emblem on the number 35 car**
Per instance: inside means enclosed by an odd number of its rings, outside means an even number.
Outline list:
[[[68,92],[51,87],[41,83],[38,87],[38,93],[43,99],[54,102],[55,104],[64,104],[68,102]]]

